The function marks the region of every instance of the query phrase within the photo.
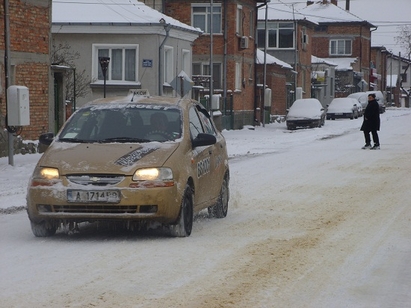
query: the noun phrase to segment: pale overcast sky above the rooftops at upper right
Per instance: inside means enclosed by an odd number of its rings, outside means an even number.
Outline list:
[[[271,0],[271,3],[277,1],[294,3],[300,7],[307,2]],[[338,0],[338,6],[345,9],[346,0]],[[405,56],[404,50],[401,50],[394,38],[399,35],[399,26],[411,25],[410,0],[350,0],[350,12],[378,27],[372,34],[372,46],[385,46],[393,53],[401,52]]]

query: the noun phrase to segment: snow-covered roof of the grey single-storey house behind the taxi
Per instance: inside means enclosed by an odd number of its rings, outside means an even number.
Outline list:
[[[53,0],[53,24],[97,25],[159,25],[170,24],[201,33],[201,29],[186,25],[136,0]]]

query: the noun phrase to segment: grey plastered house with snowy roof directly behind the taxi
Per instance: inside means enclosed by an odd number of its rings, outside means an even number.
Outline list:
[[[88,76],[77,105],[131,88],[176,95],[171,81],[181,71],[191,76],[192,43],[202,34],[136,0],[53,1],[51,31],[52,49],[70,46],[71,66]],[[106,74],[101,57],[109,58]]]

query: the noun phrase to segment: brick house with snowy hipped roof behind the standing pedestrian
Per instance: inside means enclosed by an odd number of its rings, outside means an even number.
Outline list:
[[[312,54],[339,63],[336,68],[336,97],[369,89],[371,30],[373,24],[337,6],[337,1],[313,3],[300,10],[317,22],[312,36]],[[342,63],[344,63],[342,67]],[[345,70],[350,63],[352,74]]]

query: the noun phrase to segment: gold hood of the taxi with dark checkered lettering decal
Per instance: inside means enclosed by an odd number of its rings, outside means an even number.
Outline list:
[[[61,175],[85,172],[131,175],[137,167],[162,166],[179,144],[53,142],[38,165],[58,168]]]

